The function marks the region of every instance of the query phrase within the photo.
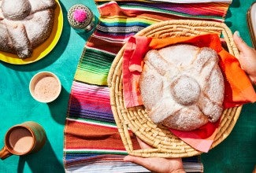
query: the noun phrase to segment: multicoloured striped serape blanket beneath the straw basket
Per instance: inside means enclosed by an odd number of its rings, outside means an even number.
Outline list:
[[[147,172],[144,167],[123,161],[127,152],[113,119],[107,86],[111,63],[124,42],[150,24],[173,19],[224,22],[232,0],[95,2],[99,22],[84,46],[69,98],[64,132],[65,171]],[[132,133],[131,138],[135,147],[139,147]],[[198,164],[191,162],[198,163],[197,159],[184,159],[185,170],[197,167]]]

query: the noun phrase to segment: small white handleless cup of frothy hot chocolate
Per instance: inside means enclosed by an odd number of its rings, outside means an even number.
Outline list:
[[[32,77],[29,91],[36,101],[49,103],[61,93],[61,82],[52,72],[39,72]]]

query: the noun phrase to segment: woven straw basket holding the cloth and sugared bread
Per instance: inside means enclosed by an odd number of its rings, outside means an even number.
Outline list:
[[[154,38],[168,38],[175,36],[192,36],[206,33],[222,34],[227,42],[228,51],[235,57],[239,51],[232,39],[232,32],[223,23],[203,20],[168,20],[153,24],[136,35],[148,36]],[[117,128],[121,134],[127,152],[133,156],[158,156],[158,157],[187,157],[201,154],[200,151],[187,145],[185,142],[173,135],[165,127],[157,126],[147,116],[143,106],[126,109],[124,107],[123,87],[122,87],[122,60],[124,46],[117,53],[113,64],[109,71],[108,84],[110,88],[110,101],[114,119],[117,123]],[[225,109],[221,116],[220,127],[217,135],[214,138],[211,149],[221,143],[239,118],[242,106]],[[133,149],[132,141],[128,130],[131,130],[143,142],[154,147],[154,149]]]

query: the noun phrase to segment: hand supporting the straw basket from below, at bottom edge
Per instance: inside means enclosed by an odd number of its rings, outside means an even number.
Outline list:
[[[142,142],[139,138],[138,142],[142,149],[152,148],[150,145]],[[125,156],[124,161],[131,161],[135,164],[139,164],[146,167],[150,171],[154,172],[172,172],[172,173],[184,173],[183,163],[181,158],[160,158],[160,157],[149,157],[143,158],[139,156]]]

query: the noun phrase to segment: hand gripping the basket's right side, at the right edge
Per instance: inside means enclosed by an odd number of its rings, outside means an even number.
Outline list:
[[[256,50],[247,45],[246,42],[239,36],[239,31],[236,31],[233,35],[234,42],[240,52],[237,57],[241,68],[249,76],[252,83],[256,84]]]

